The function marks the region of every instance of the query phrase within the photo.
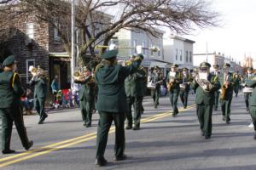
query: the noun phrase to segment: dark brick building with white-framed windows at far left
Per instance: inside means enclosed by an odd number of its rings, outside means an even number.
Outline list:
[[[0,44],[2,50],[17,56],[23,84],[31,78],[29,66],[39,65],[49,72],[49,82],[59,75],[61,88],[70,88],[69,54],[63,48],[55,27],[38,20],[36,14],[22,14],[11,20],[0,30]]]

